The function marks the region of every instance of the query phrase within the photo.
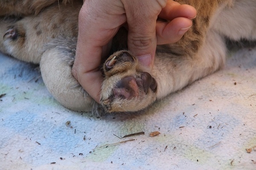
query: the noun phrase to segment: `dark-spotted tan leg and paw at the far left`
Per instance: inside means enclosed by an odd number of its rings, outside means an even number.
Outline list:
[[[23,61],[39,63],[43,45],[60,35],[77,37],[81,4],[53,5],[38,15],[24,17],[4,31],[3,51]],[[69,16],[69,17],[65,17]],[[50,21],[50,22],[49,22]],[[2,33],[1,33],[2,34]]]

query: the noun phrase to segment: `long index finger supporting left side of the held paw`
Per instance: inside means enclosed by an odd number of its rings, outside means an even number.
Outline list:
[[[98,3],[98,4],[97,4]],[[109,42],[118,28],[126,21],[122,11],[109,16],[103,12],[106,1],[85,1],[79,14],[79,33],[76,45],[76,58],[72,73],[88,94],[99,102],[103,76],[99,71],[101,59],[107,54]],[[107,21],[107,19],[109,21]]]

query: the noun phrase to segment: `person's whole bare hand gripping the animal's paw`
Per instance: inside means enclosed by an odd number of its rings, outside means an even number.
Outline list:
[[[85,0],[79,13],[73,76],[99,102],[103,80],[99,65],[123,24],[128,26],[128,49],[152,68],[157,45],[179,41],[195,16],[195,8],[173,0]]]

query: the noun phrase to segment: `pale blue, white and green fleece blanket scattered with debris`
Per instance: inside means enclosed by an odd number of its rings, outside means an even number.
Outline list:
[[[256,49],[141,113],[100,118],[61,106],[38,69],[0,54],[2,170],[256,169]]]

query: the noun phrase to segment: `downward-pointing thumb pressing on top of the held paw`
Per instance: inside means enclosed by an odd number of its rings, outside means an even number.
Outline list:
[[[129,0],[124,3],[124,8],[128,24],[128,49],[142,65],[152,68],[157,48],[156,21],[162,6],[143,0]]]

